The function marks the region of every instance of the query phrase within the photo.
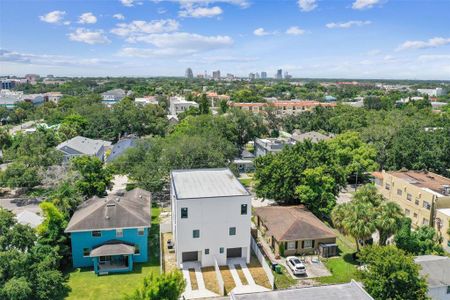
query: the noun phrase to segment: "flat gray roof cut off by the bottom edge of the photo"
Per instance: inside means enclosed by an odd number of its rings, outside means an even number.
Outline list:
[[[233,300],[373,300],[356,282],[232,295]]]

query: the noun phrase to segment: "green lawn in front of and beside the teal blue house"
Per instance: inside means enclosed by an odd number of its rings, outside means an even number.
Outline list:
[[[149,273],[159,273],[159,208],[152,208],[149,237],[149,261],[135,263],[132,273],[97,276],[89,269],[73,269],[68,273],[71,289],[67,299],[121,299],[132,293]]]

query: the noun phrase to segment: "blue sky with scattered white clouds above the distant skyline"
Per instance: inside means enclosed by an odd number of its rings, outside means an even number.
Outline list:
[[[0,74],[450,79],[448,0],[0,0]]]

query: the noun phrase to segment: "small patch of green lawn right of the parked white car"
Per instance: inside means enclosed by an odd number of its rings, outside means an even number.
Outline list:
[[[323,263],[330,270],[332,276],[317,278],[322,284],[334,284],[358,280],[359,274],[356,269],[358,263],[353,260],[352,253],[356,251],[355,243],[347,237],[338,234],[337,244],[341,251],[338,257],[323,259]]]

